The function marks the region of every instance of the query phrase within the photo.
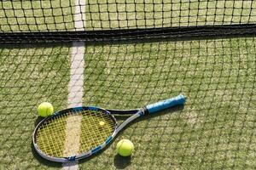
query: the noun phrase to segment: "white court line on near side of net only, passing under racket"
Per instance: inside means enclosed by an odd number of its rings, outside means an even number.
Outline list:
[[[70,82],[68,84],[68,107],[81,106],[83,102],[84,86],[84,42],[73,42],[71,58]],[[64,155],[79,151],[79,131],[81,116],[71,116],[67,119],[67,132]],[[70,150],[72,146],[76,150]],[[62,170],[79,169],[78,162],[63,163]]]

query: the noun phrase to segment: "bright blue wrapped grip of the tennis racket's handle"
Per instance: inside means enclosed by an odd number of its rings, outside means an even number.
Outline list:
[[[155,104],[147,105],[146,108],[148,110],[148,113],[154,113],[157,111],[171,108],[176,105],[183,105],[185,103],[185,100],[185,96],[183,94],[179,94],[177,97],[165,99]]]

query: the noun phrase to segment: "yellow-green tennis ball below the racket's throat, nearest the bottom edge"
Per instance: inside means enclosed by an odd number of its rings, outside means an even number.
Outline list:
[[[131,156],[131,152],[134,150],[134,145],[131,140],[121,139],[116,145],[116,150],[120,156]]]

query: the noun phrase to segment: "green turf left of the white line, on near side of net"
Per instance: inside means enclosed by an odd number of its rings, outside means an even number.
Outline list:
[[[67,107],[69,48],[0,48],[0,169],[50,169],[32,150],[37,106]]]

